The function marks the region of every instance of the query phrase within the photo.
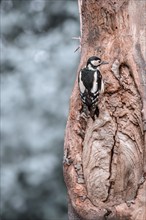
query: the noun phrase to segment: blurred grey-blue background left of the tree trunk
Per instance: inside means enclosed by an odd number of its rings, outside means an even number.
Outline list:
[[[1,0],[1,219],[66,220],[77,0]]]

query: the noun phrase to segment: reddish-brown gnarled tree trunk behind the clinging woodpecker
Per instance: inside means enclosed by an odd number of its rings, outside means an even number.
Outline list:
[[[81,61],[97,55],[99,117],[80,117],[77,80],[64,145],[69,219],[146,219],[146,1],[79,0]],[[78,71],[79,72],[79,71]],[[71,210],[71,211],[70,211]]]

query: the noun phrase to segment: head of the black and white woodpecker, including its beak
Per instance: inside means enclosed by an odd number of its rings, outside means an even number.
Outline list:
[[[108,62],[102,61],[99,57],[92,56],[88,59],[86,67],[91,70],[96,70],[103,64],[108,64]]]

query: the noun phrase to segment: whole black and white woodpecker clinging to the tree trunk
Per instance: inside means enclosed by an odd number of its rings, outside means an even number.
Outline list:
[[[107,62],[101,61],[101,59],[96,56],[90,57],[86,67],[80,70],[78,77],[83,111],[87,115],[87,111],[89,110],[93,120],[95,114],[97,117],[99,115],[97,106],[99,94],[104,92],[104,83],[99,70],[102,64],[107,64]]]

